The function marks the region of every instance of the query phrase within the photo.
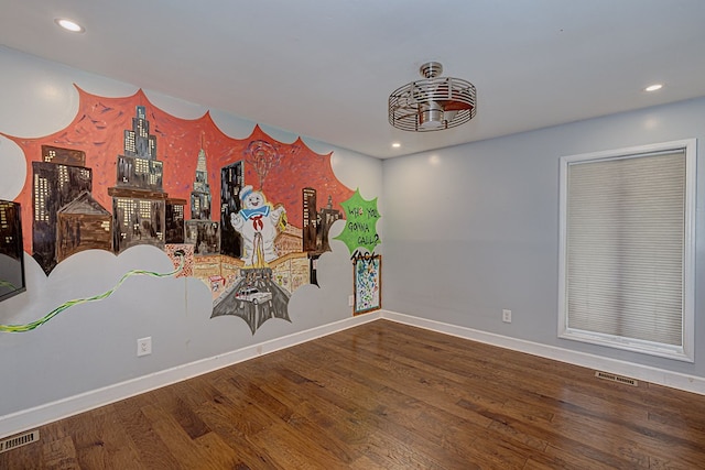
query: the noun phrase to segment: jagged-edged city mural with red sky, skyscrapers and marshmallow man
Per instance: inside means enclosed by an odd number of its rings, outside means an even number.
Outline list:
[[[346,217],[337,207],[354,194],[335,177],[332,153],[259,125],[234,139],[208,112],[176,118],[142,90],[107,98],[76,88],[65,129],[2,134],[26,159],[15,199],[29,209],[22,245],[45,274],[79,251],[150,244],[172,259],[173,275],[208,286],[212,318],[239,316],[252,334],[270,318],[290,320],[291,294],[317,283],[328,230]]]

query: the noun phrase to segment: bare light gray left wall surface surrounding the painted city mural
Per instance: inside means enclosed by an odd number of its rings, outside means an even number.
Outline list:
[[[122,97],[137,86],[72,69],[0,47],[0,132],[41,136],[66,127],[78,108],[74,84],[88,92]],[[204,85],[207,86],[207,85]],[[203,116],[198,105],[145,90],[152,103],[185,119]],[[210,110],[226,134],[247,138],[253,122]],[[282,142],[297,135],[261,125]],[[338,179],[360,188],[367,199],[381,194],[381,162],[304,138],[315,152],[329,153]],[[26,170],[22,151],[0,135],[0,198],[14,199]],[[23,207],[23,210],[32,210]],[[343,222],[332,229],[339,233]],[[31,230],[31,227],[24,227]],[[351,317],[352,267],[345,244],[333,241],[334,252],[318,263],[321,288],[297,289],[289,304],[291,323],[267,321],[254,336],[237,317],[210,319],[208,287],[196,278],[129,278],[111,297],[69,308],[36,330],[0,332],[0,417],[70,397],[169,368],[213,358],[333,321]],[[129,270],[169,272],[163,251],[135,247],[116,256],[84,251],[62,262],[47,277],[25,254],[25,293],[0,302],[0,324],[39,319],[62,303],[104,293]],[[151,336],[153,353],[137,358],[137,339]]]

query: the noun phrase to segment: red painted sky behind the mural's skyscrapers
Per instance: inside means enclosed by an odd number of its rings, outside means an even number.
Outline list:
[[[247,139],[232,139],[218,129],[208,112],[194,120],[176,118],[152,105],[142,90],[129,97],[106,98],[76,88],[79,96],[78,112],[65,129],[35,139],[2,134],[20,145],[26,159],[24,187],[15,201],[22,205],[24,250],[29,253],[32,252],[32,162],[42,160],[42,145],[86,152],[86,166],[93,168],[93,197],[112,212],[112,198],[108,196],[108,188],[116,185],[117,157],[124,153],[123,131],[132,130],[137,106],[145,107],[150,133],[156,135],[158,160],[164,163],[163,188],[170,197],[189,200],[203,141],[213,195],[210,210],[216,218],[219,212],[221,167],[243,160],[245,183],[258,189],[258,176],[245,153],[249,143],[254,140],[269,142],[283,155],[280,165],[268,174],[262,190],[269,203],[284,206],[289,222],[293,226],[302,226],[303,187],[317,189],[319,207],[325,206],[328,196],[332,196],[333,207],[341,209],[340,203],[352,196],[354,192],[344,186],[333,173],[333,152],[317,154],[301,138],[293,143],[279,142],[267,135],[259,125],[254,125]],[[188,203],[185,209],[185,217],[188,219]]]

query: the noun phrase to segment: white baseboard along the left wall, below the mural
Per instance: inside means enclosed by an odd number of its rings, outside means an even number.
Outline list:
[[[380,318],[372,311],[0,416],[0,439]]]

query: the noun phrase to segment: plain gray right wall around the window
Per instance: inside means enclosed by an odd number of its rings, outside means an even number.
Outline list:
[[[705,376],[703,289],[694,364],[556,332],[558,157],[688,138],[698,139],[697,280],[705,274],[705,98],[384,161],[384,308]],[[512,310],[511,324],[501,321],[502,308]]]

